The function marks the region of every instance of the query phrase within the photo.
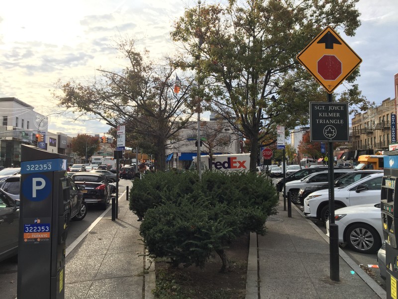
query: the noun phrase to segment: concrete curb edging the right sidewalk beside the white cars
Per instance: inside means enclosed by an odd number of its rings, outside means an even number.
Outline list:
[[[302,215],[301,210],[295,205],[292,206],[298,211],[300,216],[307,221],[312,228],[329,244],[329,238],[309,219]],[[339,248],[339,256],[355,271],[356,274],[379,296],[381,299],[387,298],[387,292],[383,290],[372,278],[369,277],[341,248]]]

